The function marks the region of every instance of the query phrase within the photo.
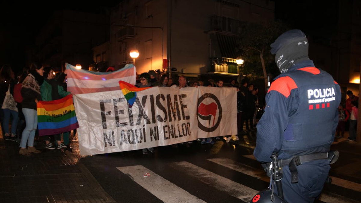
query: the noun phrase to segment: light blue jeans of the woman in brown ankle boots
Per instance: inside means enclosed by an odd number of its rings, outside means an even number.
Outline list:
[[[26,127],[21,135],[20,147],[34,147],[35,131],[38,127],[38,112],[34,109],[23,108],[22,112],[25,116]]]

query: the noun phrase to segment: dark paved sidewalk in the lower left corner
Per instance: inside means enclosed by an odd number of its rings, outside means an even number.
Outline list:
[[[39,147],[22,156],[0,135],[0,202],[115,202],[71,152]]]

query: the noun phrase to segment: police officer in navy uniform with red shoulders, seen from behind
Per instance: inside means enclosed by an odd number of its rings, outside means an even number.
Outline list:
[[[278,152],[284,199],[313,202],[330,170],[327,152],[338,124],[340,86],[308,58],[308,40],[301,30],[280,35],[271,53],[281,74],[266,95],[254,155],[270,162]]]

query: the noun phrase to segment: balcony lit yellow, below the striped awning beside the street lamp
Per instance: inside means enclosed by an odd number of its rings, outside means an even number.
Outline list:
[[[236,64],[236,59],[222,57],[220,58],[211,58],[210,72],[217,74],[228,74],[228,75],[238,75],[238,65]]]

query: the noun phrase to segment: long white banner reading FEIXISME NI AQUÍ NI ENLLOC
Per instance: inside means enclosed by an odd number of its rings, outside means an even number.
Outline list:
[[[236,134],[235,95],[235,88],[152,87],[137,92],[131,108],[121,90],[75,95],[81,155]]]

